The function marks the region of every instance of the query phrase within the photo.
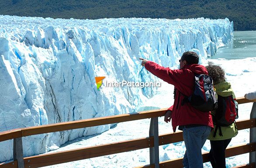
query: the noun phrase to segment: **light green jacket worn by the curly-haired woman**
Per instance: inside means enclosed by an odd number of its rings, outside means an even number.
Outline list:
[[[235,94],[231,88],[231,84],[228,82],[221,82],[219,84],[215,84],[214,88],[216,89],[216,93],[222,97],[233,95],[233,98],[235,98]],[[214,114],[215,114],[215,111],[211,111],[211,115],[213,117],[214,117]],[[235,137],[238,134],[237,127],[235,123],[233,123],[227,127],[221,127],[221,132],[223,136],[219,135],[219,129],[218,129],[217,134],[214,138],[213,134],[214,134],[215,127],[216,125],[214,124],[214,128],[211,130],[211,133],[208,136],[208,139],[211,141],[230,139]]]

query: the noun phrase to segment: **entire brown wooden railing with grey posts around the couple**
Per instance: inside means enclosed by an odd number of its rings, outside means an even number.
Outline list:
[[[256,100],[250,101],[244,97],[237,98],[239,104],[253,103],[250,119],[237,121],[239,130],[250,128],[250,143],[227,148],[226,157],[250,153],[249,164],[241,165],[235,168],[256,168]],[[182,168],[182,158],[163,161],[159,163],[159,145],[171,144],[183,141],[182,132],[170,134],[158,134],[158,117],[165,114],[166,109],[143,111],[134,114],[121,114],[102,118],[92,118],[80,121],[69,121],[57,124],[48,124],[36,127],[18,128],[0,133],[0,141],[14,139],[14,161],[0,164],[0,168],[38,168],[48,165],[66,163],[69,161],[78,161],[86,158],[93,158],[104,155],[111,155],[120,152],[138,150],[143,148],[150,149],[150,165],[144,165],[138,168]],[[242,110],[239,110],[240,114]],[[149,137],[121,141],[111,144],[103,144],[86,148],[79,148],[69,151],[61,151],[50,154],[35,155],[23,157],[22,137],[44,134],[55,131],[65,131],[77,128],[86,128],[104,124],[114,124],[125,121],[140,120],[151,118]],[[203,154],[203,161],[208,162],[208,152]]]

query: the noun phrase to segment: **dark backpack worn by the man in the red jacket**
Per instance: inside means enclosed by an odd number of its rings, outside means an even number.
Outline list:
[[[181,92],[180,92],[181,93]],[[182,94],[182,93],[181,93]],[[195,74],[194,91],[190,97],[184,96],[181,105],[190,104],[199,111],[209,112],[218,108],[216,95],[213,89],[213,80],[206,74]]]

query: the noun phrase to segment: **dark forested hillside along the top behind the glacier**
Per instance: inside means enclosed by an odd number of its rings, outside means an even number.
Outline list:
[[[256,30],[256,0],[0,0],[0,14],[100,19],[204,17],[234,22],[234,30]]]

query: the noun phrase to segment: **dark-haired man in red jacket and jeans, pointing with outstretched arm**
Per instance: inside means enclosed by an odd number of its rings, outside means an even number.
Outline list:
[[[172,119],[173,132],[179,126],[183,131],[186,152],[183,158],[185,168],[204,168],[201,148],[213,128],[210,112],[202,112],[183,103],[184,95],[190,96],[194,91],[195,74],[208,74],[206,68],[198,64],[199,57],[195,52],[187,51],[180,59],[180,69],[171,70],[161,67],[152,61],[140,58],[146,70],[174,85],[174,104],[166,111],[164,121]]]

